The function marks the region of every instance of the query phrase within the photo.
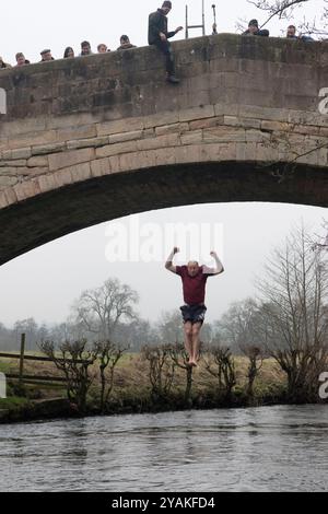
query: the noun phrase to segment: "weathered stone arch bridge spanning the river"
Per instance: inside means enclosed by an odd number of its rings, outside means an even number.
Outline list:
[[[0,72],[0,264],[173,206],[328,205],[328,44],[222,34]]]

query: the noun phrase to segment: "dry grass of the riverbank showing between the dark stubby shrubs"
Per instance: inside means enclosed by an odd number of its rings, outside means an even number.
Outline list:
[[[17,361],[0,361],[0,371],[17,373]],[[169,393],[154,395],[149,379],[149,363],[140,354],[125,354],[115,370],[114,388],[106,406],[107,414],[162,412],[183,409],[213,409],[277,405],[286,402],[284,375],[272,360],[266,360],[254,386],[247,395],[247,360],[235,358],[236,385],[232,394],[220,390],[218,379],[201,360],[192,371],[191,394],[186,401],[186,371],[176,369]],[[25,362],[26,375],[61,376],[52,363]],[[99,412],[99,384],[95,376],[87,396],[85,414]],[[9,382],[8,398],[0,400],[0,423],[77,417],[77,407],[67,400],[62,385],[24,385]]]

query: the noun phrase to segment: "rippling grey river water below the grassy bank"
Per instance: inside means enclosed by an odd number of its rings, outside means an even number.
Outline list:
[[[1,491],[328,491],[328,406],[0,425]]]

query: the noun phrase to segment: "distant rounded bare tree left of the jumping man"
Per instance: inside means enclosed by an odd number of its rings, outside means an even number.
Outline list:
[[[81,294],[73,306],[75,323],[99,339],[110,340],[120,320],[137,318],[133,305],[138,301],[138,293],[129,285],[108,279],[101,288]]]

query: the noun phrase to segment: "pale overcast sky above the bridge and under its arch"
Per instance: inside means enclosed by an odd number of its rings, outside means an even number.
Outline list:
[[[185,24],[185,0],[173,2],[171,27]],[[211,4],[207,5],[207,32],[212,23]],[[201,0],[189,0],[190,23],[199,23]],[[320,0],[312,0],[308,9],[300,10],[294,22],[303,15],[314,17]],[[224,8],[223,8],[224,5]],[[1,2],[2,24],[0,55],[10,62],[16,51],[24,51],[32,61],[39,60],[39,51],[49,47],[55,57],[61,57],[66,46],[79,51],[79,44],[89,39],[93,48],[106,43],[112,49],[118,46],[122,33],[130,35],[138,46],[147,44],[148,14],[160,2],[142,0],[125,2],[98,0],[95,3],[58,0],[45,3],[39,0]],[[315,8],[315,9],[314,9]],[[238,19],[265,15],[246,0],[216,2],[219,32],[235,32]],[[297,20],[298,17],[298,20]],[[272,35],[281,35],[286,22],[271,22]],[[197,31],[194,35],[199,35]],[[184,37],[183,33],[176,37]],[[11,325],[16,319],[35,317],[39,323],[62,322],[69,307],[82,290],[101,285],[107,278],[117,277],[129,283],[140,294],[140,314],[155,320],[164,309],[181,304],[180,279],[168,273],[163,262],[109,262],[106,258],[109,231],[124,223],[129,234],[131,223],[141,227],[155,223],[164,231],[165,223],[204,223],[219,226],[216,249],[225,266],[225,273],[208,282],[208,319],[216,319],[233,301],[254,294],[254,277],[270,248],[280,244],[289,231],[302,220],[309,229],[319,232],[326,209],[271,203],[218,203],[190,206],[178,209],[147,212],[126,220],[113,221],[71,234],[37,248],[0,268],[0,322]],[[184,246],[184,242],[176,242]],[[164,237],[161,241],[165,252]],[[190,255],[194,257],[194,255]],[[207,254],[200,258],[207,260]],[[211,262],[210,259],[207,260]]]

